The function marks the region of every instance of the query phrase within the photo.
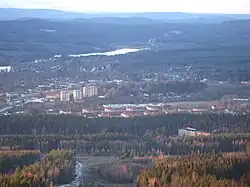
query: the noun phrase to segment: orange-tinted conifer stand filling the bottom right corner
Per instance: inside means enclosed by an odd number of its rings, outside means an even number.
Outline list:
[[[157,160],[145,169],[137,184],[178,187],[247,187],[250,182],[249,153],[192,154]]]

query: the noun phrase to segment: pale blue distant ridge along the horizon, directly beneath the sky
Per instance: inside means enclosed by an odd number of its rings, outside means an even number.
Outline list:
[[[145,12],[145,13],[79,13],[53,9],[16,9],[0,8],[0,20],[15,20],[20,18],[40,18],[54,20],[94,19],[105,18],[114,21],[114,18],[150,19],[165,22],[223,22],[237,19],[250,19],[246,14],[196,14],[182,12]],[[109,18],[109,19],[107,19]],[[100,21],[94,20],[94,21]],[[149,20],[147,20],[149,21]]]

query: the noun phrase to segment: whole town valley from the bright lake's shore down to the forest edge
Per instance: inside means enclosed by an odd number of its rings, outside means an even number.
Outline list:
[[[196,66],[130,72],[120,67],[129,56],[55,56],[0,67],[0,114],[135,117],[250,111],[248,81],[220,81],[208,72],[200,76],[203,70]]]

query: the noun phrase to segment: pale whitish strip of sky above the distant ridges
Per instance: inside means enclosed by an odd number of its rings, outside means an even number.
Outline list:
[[[250,0],[0,0],[0,7],[46,8],[77,12],[250,14]]]

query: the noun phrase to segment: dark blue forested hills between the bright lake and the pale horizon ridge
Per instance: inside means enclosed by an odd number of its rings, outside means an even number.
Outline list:
[[[32,61],[55,54],[109,51],[113,50],[110,47],[111,44],[114,48],[116,44],[151,47],[149,41],[152,39],[155,39],[154,46],[162,46],[159,53],[161,51],[165,53],[169,50],[171,52],[177,51],[180,59],[176,59],[176,61],[179,62],[190,58],[196,59],[197,55],[200,55],[198,58],[201,61],[210,59],[218,63],[220,60],[230,60],[230,58],[225,57],[229,55],[237,57],[236,60],[241,60],[238,58],[239,56],[243,58],[242,60],[248,59],[250,24],[247,21],[188,24],[161,23],[137,18],[132,19],[134,21],[130,23],[131,19],[0,21],[0,63],[2,61],[12,63],[15,60]],[[137,22],[140,24],[135,24]],[[173,34],[174,31],[181,34]],[[186,45],[187,47],[183,48]],[[178,46],[182,46],[182,48]],[[99,50],[95,51],[97,48]],[[181,53],[179,53],[180,50]],[[171,61],[175,63],[174,60]]]

